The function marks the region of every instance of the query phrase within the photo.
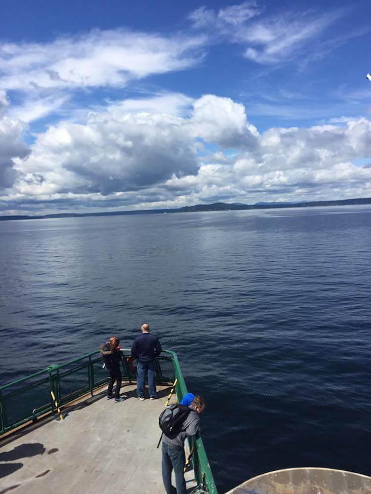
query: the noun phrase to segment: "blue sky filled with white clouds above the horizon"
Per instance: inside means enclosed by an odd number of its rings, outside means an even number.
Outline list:
[[[2,0],[0,215],[371,197],[370,19]]]

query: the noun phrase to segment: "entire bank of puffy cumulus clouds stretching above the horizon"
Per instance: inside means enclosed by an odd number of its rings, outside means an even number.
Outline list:
[[[91,114],[85,124],[51,126],[27,159],[15,166],[8,159],[18,175],[0,200],[13,209],[76,210],[371,195],[371,168],[358,165],[371,156],[368,119],[259,134],[230,98],[206,94],[192,108],[189,116],[172,116],[127,111],[123,103]],[[16,128],[6,142],[17,142]],[[7,156],[21,157],[16,151]]]

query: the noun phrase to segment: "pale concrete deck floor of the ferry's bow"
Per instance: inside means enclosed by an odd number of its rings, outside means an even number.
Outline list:
[[[0,494],[160,494],[158,416],[169,387],[158,399],[140,401],[124,384],[115,403],[104,389],[66,407],[63,421],[40,420],[0,442]],[[187,487],[195,486],[193,472]]]

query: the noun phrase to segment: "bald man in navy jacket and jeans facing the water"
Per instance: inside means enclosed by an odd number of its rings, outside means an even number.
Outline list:
[[[155,358],[162,351],[159,339],[149,332],[149,324],[140,326],[141,334],[136,337],[132,346],[132,357],[138,359],[137,395],[139,400],[144,398],[145,377],[148,374],[148,391],[151,400],[156,398]]]

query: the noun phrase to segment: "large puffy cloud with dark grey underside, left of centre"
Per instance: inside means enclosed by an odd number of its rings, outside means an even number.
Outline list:
[[[22,170],[42,174],[39,192],[110,193],[197,173],[183,120],[166,114],[92,114],[87,124],[51,126],[32,146]],[[29,187],[29,184],[27,184]]]

